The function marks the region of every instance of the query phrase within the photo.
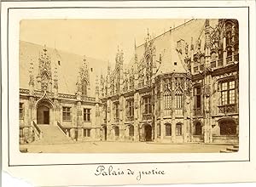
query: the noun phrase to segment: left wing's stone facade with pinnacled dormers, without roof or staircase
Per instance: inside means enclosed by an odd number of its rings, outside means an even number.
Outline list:
[[[57,67],[52,70],[52,59],[46,47],[38,58],[38,76],[33,77],[30,63],[29,89],[20,88],[20,144],[41,139],[38,125],[57,126],[70,139],[100,140],[97,126],[98,98],[88,96],[89,68],[86,59],[79,68],[75,94],[58,92]],[[53,73],[52,73],[53,72]]]

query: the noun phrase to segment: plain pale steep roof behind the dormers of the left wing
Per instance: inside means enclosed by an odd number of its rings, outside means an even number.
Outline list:
[[[33,63],[33,76],[38,76],[38,57],[43,51],[43,46],[31,42],[20,41],[20,88],[29,88],[29,67]],[[55,66],[58,71],[58,92],[61,94],[75,94],[76,82],[79,76],[79,67],[83,64],[84,57],[79,54],[70,54],[54,48],[47,48],[51,59],[51,71],[54,75]],[[102,70],[107,70],[106,62],[100,59],[86,57],[90,71],[90,91],[88,96],[95,95],[96,75],[101,76]],[[106,66],[106,67],[105,67]],[[99,68],[101,67],[101,68]]]

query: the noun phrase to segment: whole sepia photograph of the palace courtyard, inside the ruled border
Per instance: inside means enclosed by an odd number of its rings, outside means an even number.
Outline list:
[[[235,153],[236,19],[20,20],[20,152]]]

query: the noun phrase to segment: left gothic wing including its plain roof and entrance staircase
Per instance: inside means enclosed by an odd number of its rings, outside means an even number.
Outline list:
[[[20,41],[20,144],[101,139],[91,71],[85,57]]]

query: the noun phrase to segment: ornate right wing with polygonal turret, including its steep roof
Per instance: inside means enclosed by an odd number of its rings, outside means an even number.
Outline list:
[[[148,33],[126,70],[118,51],[101,77],[103,139],[238,143],[238,23],[196,21]],[[199,35],[183,40],[195,27]]]

